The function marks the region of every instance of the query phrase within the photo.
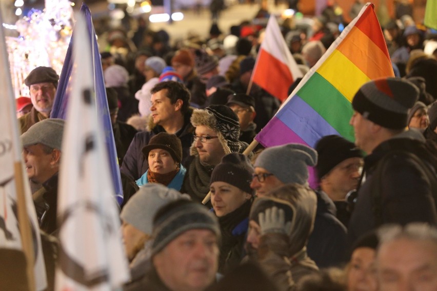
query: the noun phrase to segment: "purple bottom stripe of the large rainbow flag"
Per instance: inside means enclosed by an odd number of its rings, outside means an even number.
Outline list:
[[[266,148],[290,142],[302,143],[308,146],[302,138],[296,135],[284,122],[276,117],[273,117],[269,123],[267,123],[263,130],[256,135],[255,139]]]

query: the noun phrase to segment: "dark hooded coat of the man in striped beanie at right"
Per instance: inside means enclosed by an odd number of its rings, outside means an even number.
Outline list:
[[[381,223],[404,225],[413,221],[423,221],[437,224],[431,180],[420,164],[406,155],[390,155],[389,159],[385,159],[384,169],[378,171],[379,162],[384,156],[396,150],[412,153],[430,165],[435,160],[435,157],[427,152],[424,138],[417,131],[404,132],[376,147],[364,159],[366,181],[358,191],[349,222],[349,244],[378,227],[377,217],[381,218]],[[376,200],[375,193],[378,192],[380,198]]]

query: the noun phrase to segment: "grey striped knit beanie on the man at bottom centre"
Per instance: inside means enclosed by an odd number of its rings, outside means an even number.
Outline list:
[[[164,206],[153,219],[152,256],[189,230],[209,230],[221,238],[217,218],[204,205],[178,200]]]

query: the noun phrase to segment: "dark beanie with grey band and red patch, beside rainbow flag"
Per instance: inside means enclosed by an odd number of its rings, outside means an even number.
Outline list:
[[[407,115],[419,98],[419,89],[401,78],[371,80],[361,86],[352,100],[353,110],[388,129],[403,129]]]

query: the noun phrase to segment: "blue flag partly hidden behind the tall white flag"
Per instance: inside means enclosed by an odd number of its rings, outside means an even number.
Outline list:
[[[96,114],[102,120],[105,133],[105,144],[107,149],[107,159],[109,161],[112,184],[115,189],[118,204],[123,202],[123,189],[120,177],[120,166],[118,165],[117,151],[115,150],[114,133],[112,132],[111,117],[109,115],[108,99],[106,97],[105,80],[103,78],[102,61],[97,48],[97,39],[95,37],[94,26],[92,25],[91,12],[82,4],[81,13],[86,20],[85,37],[89,40],[91,52],[92,75],[91,82],[93,91],[95,91]],[[70,95],[72,93],[72,82],[75,78],[75,58],[73,57],[74,39],[76,36],[75,29],[71,36],[70,44],[68,45],[67,55],[65,56],[64,66],[62,67],[61,77],[56,89],[56,96],[53,103],[53,108],[50,113],[50,118],[66,119],[66,113],[69,107]]]

